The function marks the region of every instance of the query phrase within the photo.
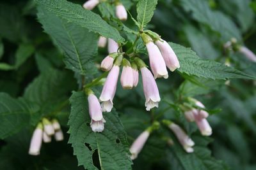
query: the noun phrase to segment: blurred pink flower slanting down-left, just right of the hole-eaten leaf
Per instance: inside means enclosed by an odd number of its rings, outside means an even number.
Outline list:
[[[138,136],[137,139],[132,143],[132,146],[130,148],[130,152],[132,153],[131,159],[134,160],[138,157],[138,154],[141,152],[143,146],[145,145],[150,132],[144,131]]]

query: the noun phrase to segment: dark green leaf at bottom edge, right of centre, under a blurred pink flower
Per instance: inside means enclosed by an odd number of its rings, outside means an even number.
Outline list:
[[[184,170],[227,170],[229,169],[226,164],[221,160],[216,160],[211,156],[211,151],[207,149],[207,144],[209,140],[204,139],[204,137],[193,138],[195,141],[195,152],[186,153],[180,146],[176,138],[173,138],[175,145],[172,147],[173,156],[179,160],[180,166]]]

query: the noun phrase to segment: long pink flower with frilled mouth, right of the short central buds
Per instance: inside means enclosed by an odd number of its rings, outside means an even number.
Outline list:
[[[154,80],[153,75],[147,67],[141,67],[140,71],[142,75],[143,91],[146,98],[145,106],[146,110],[150,111],[150,109],[154,107],[158,108],[158,103],[161,99],[156,85],[156,80]]]

